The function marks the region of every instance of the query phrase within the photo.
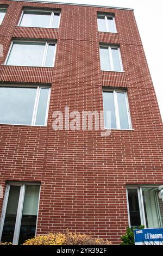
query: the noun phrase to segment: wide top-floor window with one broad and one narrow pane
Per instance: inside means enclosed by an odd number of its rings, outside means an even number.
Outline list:
[[[23,10],[18,26],[59,28],[60,12],[51,10]]]

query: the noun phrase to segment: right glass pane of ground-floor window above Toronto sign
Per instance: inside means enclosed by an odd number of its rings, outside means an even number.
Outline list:
[[[163,201],[158,188],[142,188],[147,228],[162,228]]]

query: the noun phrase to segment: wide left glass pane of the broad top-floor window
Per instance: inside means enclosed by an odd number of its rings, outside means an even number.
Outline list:
[[[24,11],[20,26],[48,28],[50,20],[51,13]]]

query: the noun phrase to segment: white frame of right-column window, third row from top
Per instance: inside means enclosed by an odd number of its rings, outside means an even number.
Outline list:
[[[103,88],[104,92],[113,92],[113,99],[114,99],[114,109],[115,109],[115,119],[116,119],[116,128],[108,128],[105,126],[105,129],[111,129],[111,130],[133,130],[132,124],[131,124],[131,117],[130,117],[130,110],[129,110],[129,102],[128,102],[128,96],[126,90],[121,89],[112,89],[112,88]],[[120,123],[120,113],[118,109],[118,99],[117,99],[117,93],[124,93],[125,96],[125,102],[126,102],[126,109],[127,109],[127,118],[128,118],[128,127],[129,129],[122,129],[121,123]],[[103,104],[104,109],[104,104]]]

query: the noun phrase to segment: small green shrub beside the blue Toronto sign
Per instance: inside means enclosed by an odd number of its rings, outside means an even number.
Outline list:
[[[145,226],[141,225],[138,227],[139,229],[145,228]],[[126,235],[121,236],[122,242],[120,245],[135,245],[134,241],[134,230],[135,228],[131,229],[130,227],[127,227]]]

